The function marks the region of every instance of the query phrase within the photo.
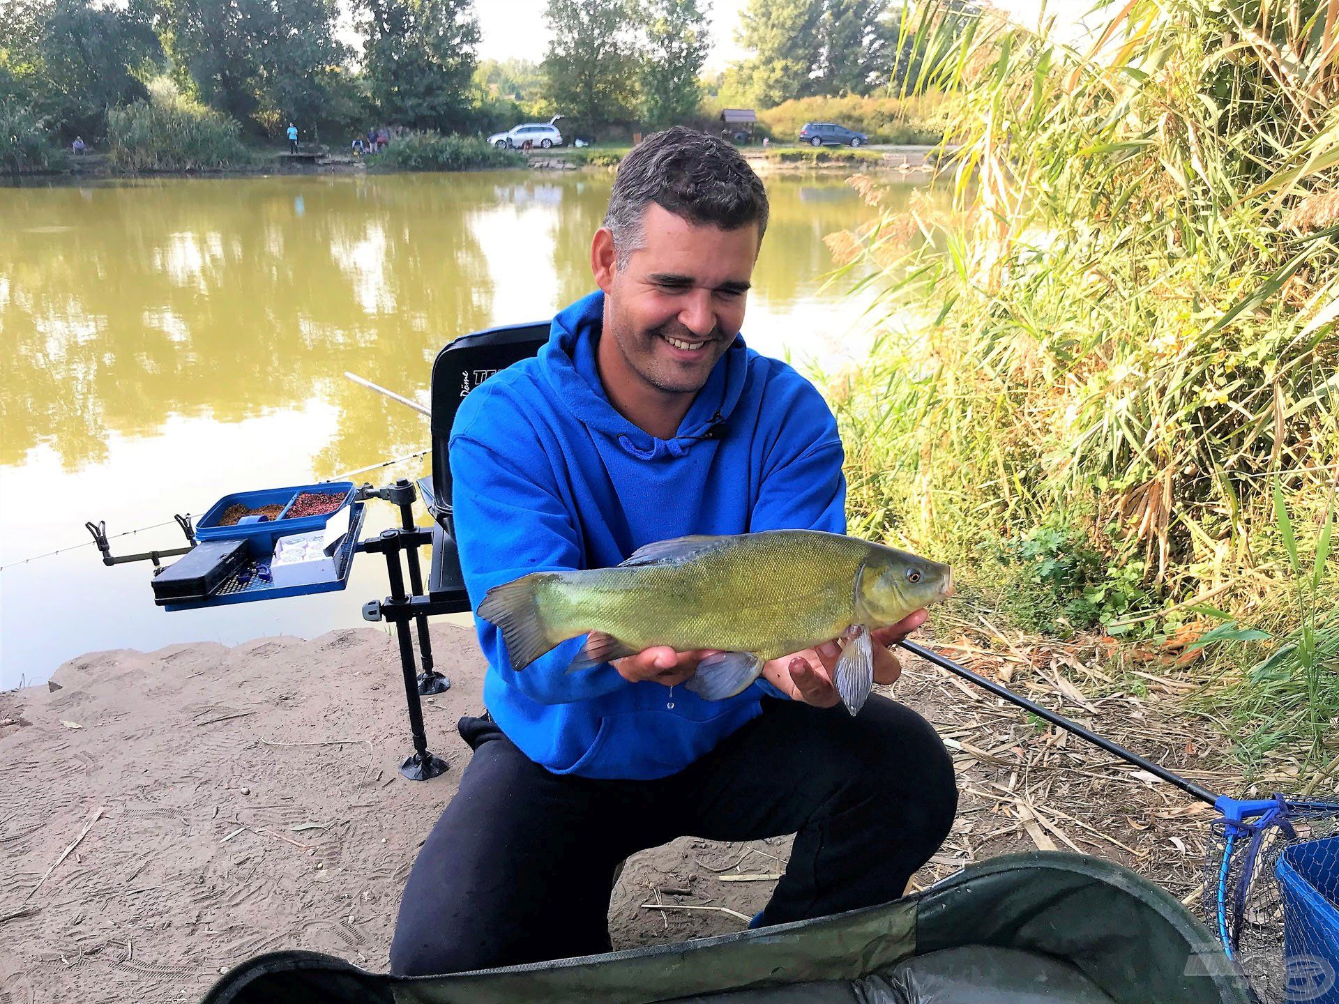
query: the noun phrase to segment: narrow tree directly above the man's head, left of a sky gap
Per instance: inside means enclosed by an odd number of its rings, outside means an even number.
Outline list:
[[[698,0],[645,0],[640,15],[643,115],[652,126],[683,122],[702,100],[698,74],[711,48],[707,12]]]

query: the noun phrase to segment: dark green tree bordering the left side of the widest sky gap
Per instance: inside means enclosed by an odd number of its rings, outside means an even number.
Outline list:
[[[358,0],[367,84],[383,118],[459,129],[470,116],[479,24],[473,0]]]

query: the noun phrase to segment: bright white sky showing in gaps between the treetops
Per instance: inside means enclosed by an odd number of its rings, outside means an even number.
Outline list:
[[[747,0],[712,0],[711,31],[712,47],[707,56],[707,72],[724,70],[743,58],[743,50],[735,41],[739,28],[739,13]],[[1023,24],[1036,23],[1043,0],[995,0],[995,5],[1008,11]],[[1050,12],[1059,12],[1058,20],[1066,27],[1075,21],[1075,13],[1067,8],[1087,9],[1091,3],[1077,0],[1051,0]],[[474,9],[479,16],[479,58],[481,59],[529,59],[536,63],[544,59],[549,32],[544,24],[545,0],[475,0]]]

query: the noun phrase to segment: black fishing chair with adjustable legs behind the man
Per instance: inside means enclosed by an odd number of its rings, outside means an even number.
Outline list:
[[[410,780],[427,780],[446,771],[446,762],[427,750],[423,732],[423,705],[419,695],[441,693],[450,681],[432,669],[432,647],[427,633],[427,618],[442,613],[469,613],[470,597],[465,592],[461,574],[461,556],[455,548],[455,529],[451,521],[451,465],[447,450],[455,412],[466,394],[499,369],[529,359],[549,339],[549,323],[513,324],[462,335],[437,355],[432,363],[431,386],[431,452],[432,474],[420,478],[418,491],[423,495],[432,529],[414,525],[412,503],[415,486],[410,481],[371,491],[367,495],[384,498],[400,507],[402,526],[384,530],[379,538],[363,541],[360,550],[386,554],[391,594],[386,600],[372,600],[363,606],[363,618],[387,621],[395,625],[400,648],[400,668],[404,673],[404,692],[408,701],[410,732],[414,754],[400,764],[400,774]],[[419,572],[418,550],[431,543],[427,590]],[[400,568],[400,553],[408,565],[408,589]],[[418,628],[419,661],[422,672],[414,673],[414,648],[408,622]]]

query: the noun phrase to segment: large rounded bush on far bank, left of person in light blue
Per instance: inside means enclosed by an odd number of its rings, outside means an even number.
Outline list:
[[[111,162],[129,171],[198,171],[250,161],[241,124],[181,95],[167,80],[150,86],[147,102],[107,111]]]

